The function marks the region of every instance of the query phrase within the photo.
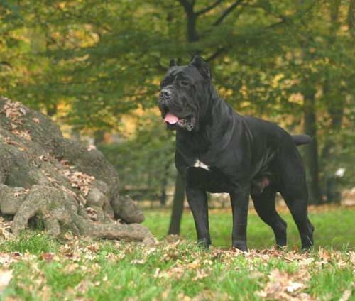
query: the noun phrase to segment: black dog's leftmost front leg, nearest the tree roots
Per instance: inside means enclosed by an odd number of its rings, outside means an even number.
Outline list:
[[[197,243],[208,248],[211,238],[209,236],[207,194],[204,190],[187,186],[186,196],[195,220]]]

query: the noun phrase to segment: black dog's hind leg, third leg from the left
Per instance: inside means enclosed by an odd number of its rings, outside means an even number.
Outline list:
[[[266,187],[261,194],[252,193],[251,198],[258,216],[273,229],[277,246],[283,247],[286,246],[287,241],[287,224],[276,212],[275,195],[273,187]]]

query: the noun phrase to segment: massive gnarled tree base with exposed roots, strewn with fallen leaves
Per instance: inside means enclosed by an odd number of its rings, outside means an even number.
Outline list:
[[[154,243],[143,213],[119,195],[119,178],[95,148],[62,137],[48,117],[0,97],[0,214],[18,235],[36,217],[53,236]],[[118,220],[119,219],[119,220]]]

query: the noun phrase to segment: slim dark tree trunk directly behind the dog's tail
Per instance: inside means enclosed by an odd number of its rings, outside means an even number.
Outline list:
[[[308,198],[309,204],[321,204],[322,195],[320,193],[317,127],[315,115],[315,91],[305,95],[304,104],[304,131],[313,139],[309,146],[305,148],[305,165],[308,175]]]

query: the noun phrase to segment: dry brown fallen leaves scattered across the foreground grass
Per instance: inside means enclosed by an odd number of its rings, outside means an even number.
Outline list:
[[[13,265],[25,261],[31,264],[31,270],[33,270],[33,275],[29,276],[32,284],[27,285],[26,282],[23,282],[21,288],[33,290],[40,285],[43,288],[43,290],[41,289],[43,299],[50,298],[50,296],[53,296],[52,288],[50,288],[42,268],[43,265],[54,261],[62,264],[63,270],[68,275],[77,272],[85,275],[75,287],[68,289],[66,292],[69,294],[67,298],[70,299],[71,295],[77,299],[92,286],[109,285],[110,280],[106,274],[102,275],[102,266],[99,264],[99,258],[102,258],[102,256],[109,263],[128,260],[131,265],[138,266],[138,268],[151,265],[151,258],[154,258],[155,261],[158,258],[157,266],[151,268],[151,277],[163,281],[167,285],[166,290],[162,292],[160,297],[163,297],[163,295],[169,296],[171,292],[170,281],[172,280],[175,283],[188,279],[193,285],[193,283],[213,278],[213,269],[216,264],[222,267],[225,272],[228,272],[231,267],[238,269],[242,263],[243,268],[249,270],[245,277],[258,283],[258,289],[254,293],[255,297],[261,300],[308,301],[318,300],[317,296],[310,294],[310,273],[315,273],[325,266],[335,266],[340,269],[351,267],[353,270],[355,268],[354,251],[329,251],[324,248],[319,248],[311,253],[280,251],[276,248],[261,251],[250,250],[245,253],[221,248],[202,251],[192,243],[180,239],[177,241],[160,241],[159,245],[154,247],[121,241],[95,241],[89,237],[77,239],[70,233],[65,234],[63,239],[62,245],[55,253],[43,252],[38,256],[28,252],[23,254],[18,252],[0,253],[0,278],[3,277],[0,280],[0,289],[2,285],[2,290],[4,290],[13,278],[16,278],[17,283],[21,283],[21,279],[28,277],[28,275],[13,276],[12,273]],[[102,248],[107,246],[107,243],[109,248],[102,253]],[[292,266],[292,268],[270,266],[270,263],[275,260],[282,260],[286,266]],[[268,265],[271,268],[265,270],[263,266]],[[223,273],[221,277],[224,277]],[[341,300],[350,300],[353,291],[354,282],[342,292]],[[233,297],[235,296],[229,296],[223,292],[213,292],[205,288],[193,298],[181,292],[179,299],[233,300]]]

